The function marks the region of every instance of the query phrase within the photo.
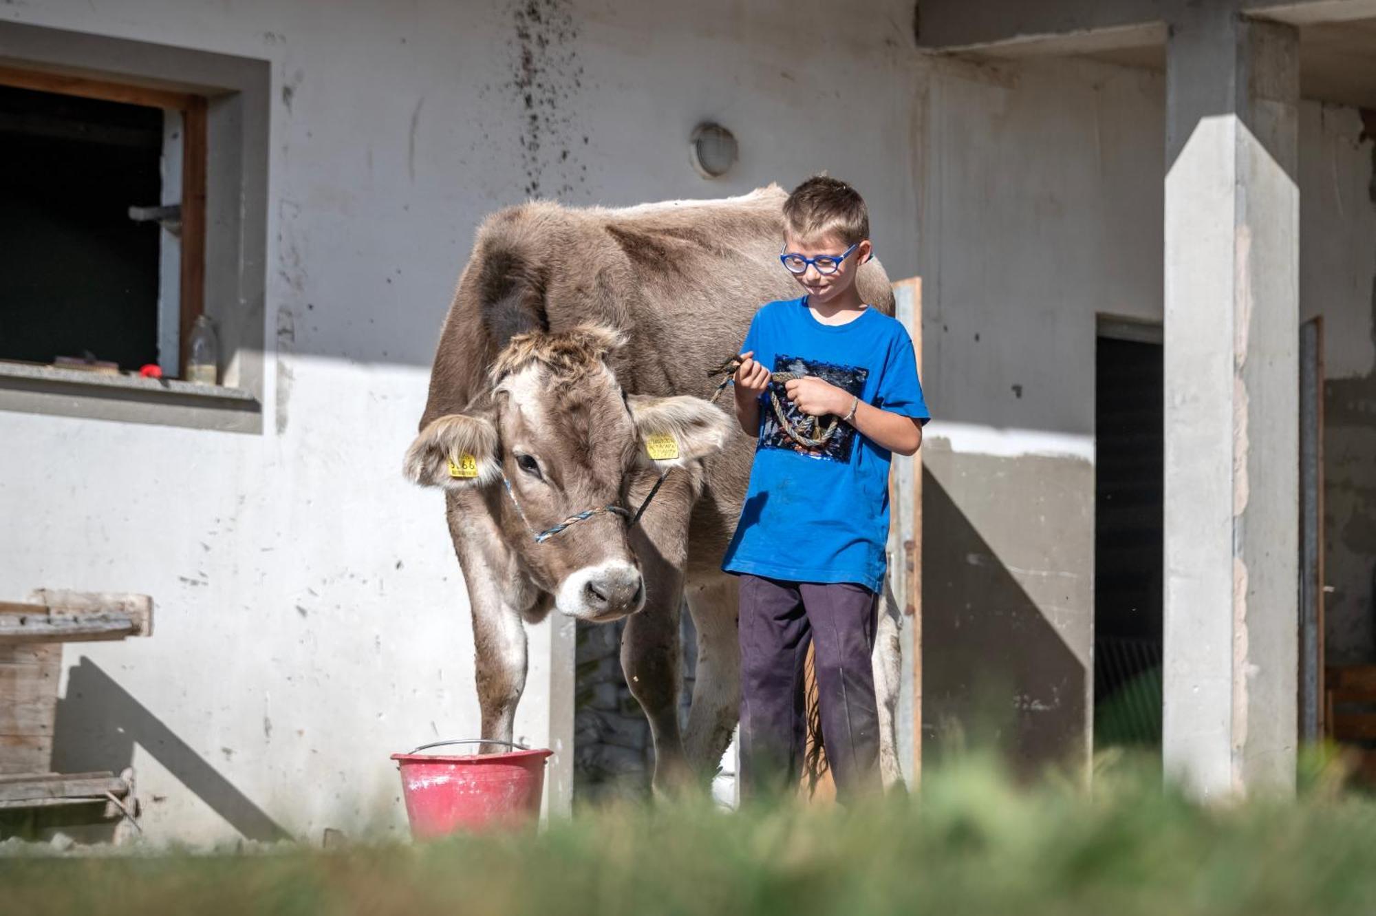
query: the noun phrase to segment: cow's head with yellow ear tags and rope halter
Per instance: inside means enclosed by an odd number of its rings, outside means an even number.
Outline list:
[[[731,429],[700,397],[627,396],[604,362],[621,342],[600,327],[513,337],[493,366],[491,395],[429,422],[406,452],[406,476],[421,486],[494,488],[488,505],[498,506],[504,538],[535,585],[561,612],[596,622],[645,601],[626,519],[597,513],[538,543],[535,532],[589,509],[626,506],[634,469],[709,455]],[[501,492],[504,476],[510,498]]]

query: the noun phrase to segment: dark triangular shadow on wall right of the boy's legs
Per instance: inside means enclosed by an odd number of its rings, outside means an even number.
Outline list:
[[[922,755],[992,747],[1018,776],[1083,759],[1088,673],[922,475]]]

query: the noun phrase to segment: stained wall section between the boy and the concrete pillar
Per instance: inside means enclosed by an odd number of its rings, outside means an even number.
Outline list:
[[[1159,77],[941,63],[923,164],[925,747],[1083,762],[1097,315],[1160,320]],[[991,734],[992,732],[992,734]]]

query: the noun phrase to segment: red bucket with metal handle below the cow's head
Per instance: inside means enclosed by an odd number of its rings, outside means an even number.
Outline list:
[[[420,754],[447,744],[506,744],[508,754]],[[411,836],[433,839],[461,829],[519,827],[539,817],[545,761],[553,751],[528,750],[510,741],[466,739],[422,744],[394,754],[402,772],[402,796]]]

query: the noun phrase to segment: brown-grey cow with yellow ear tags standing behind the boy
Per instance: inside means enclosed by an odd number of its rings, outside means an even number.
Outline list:
[[[623,209],[534,201],[477,230],[405,473],[444,490],[483,739],[512,740],[524,623],[556,609],[594,623],[627,618],[621,663],[649,722],[652,787],[716,772],[740,700],[736,587],[721,557],[754,443],[709,397],[721,381],[713,369],[735,355],[755,309],[799,294],[779,264],[784,198],[769,186]],[[859,283],[893,314],[878,261]],[[684,600],[698,673],[680,732]],[[890,591],[874,653],[886,785],[901,778],[897,631]]]

